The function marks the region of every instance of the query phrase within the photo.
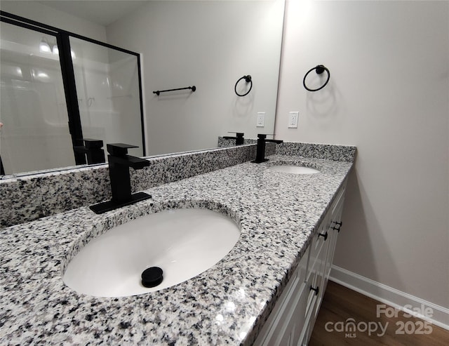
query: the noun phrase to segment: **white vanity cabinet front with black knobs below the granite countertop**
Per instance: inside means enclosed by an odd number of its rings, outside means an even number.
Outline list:
[[[319,313],[340,231],[346,182],[307,247],[255,346],[307,345]]]

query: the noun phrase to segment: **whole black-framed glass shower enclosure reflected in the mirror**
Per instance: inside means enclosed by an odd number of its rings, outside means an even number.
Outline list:
[[[4,12],[0,25],[1,174],[92,163],[89,139],[145,156],[138,53]]]

